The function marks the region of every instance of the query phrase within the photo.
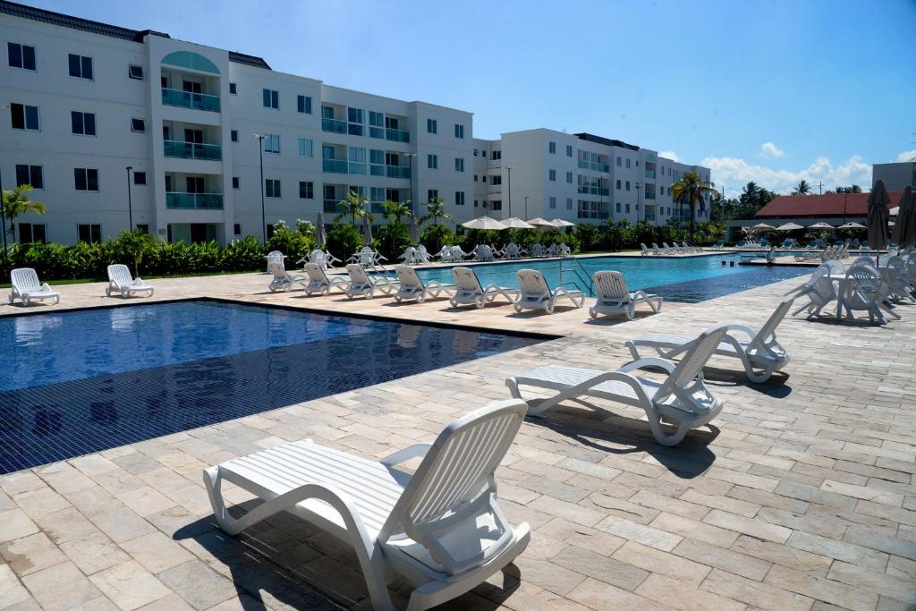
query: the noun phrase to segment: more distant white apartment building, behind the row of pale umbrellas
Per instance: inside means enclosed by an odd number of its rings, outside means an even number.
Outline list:
[[[474,138],[474,215],[667,224],[679,215],[671,185],[689,171],[710,180],[708,168],[592,134],[529,129]],[[708,206],[697,218],[708,218]]]

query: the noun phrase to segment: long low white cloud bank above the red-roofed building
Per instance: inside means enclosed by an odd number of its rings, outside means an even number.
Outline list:
[[[728,196],[736,195],[751,180],[782,194],[790,193],[799,180],[810,182],[815,193],[819,182],[823,182],[824,191],[852,184],[867,189],[871,185],[871,164],[858,155],[837,165],[829,158],[819,157],[807,168],[799,170],[769,168],[735,157],[707,157],[701,165],[712,170],[712,180],[716,185],[725,184]]]

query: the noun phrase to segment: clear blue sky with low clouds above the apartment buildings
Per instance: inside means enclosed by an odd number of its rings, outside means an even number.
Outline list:
[[[20,0],[474,113],[587,131],[788,192],[916,158],[916,0]]]

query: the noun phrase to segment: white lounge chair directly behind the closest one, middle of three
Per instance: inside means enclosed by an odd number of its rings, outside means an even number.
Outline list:
[[[722,342],[726,331],[727,325],[717,324],[700,333],[676,365],[663,358],[651,357],[641,358],[615,371],[543,366],[507,378],[506,386],[515,398],[521,398],[518,387],[522,385],[559,391],[551,398],[530,400],[529,416],[537,416],[568,398],[583,396],[642,408],[656,441],[662,445],[676,445],[687,431],[703,426],[722,411],[722,401],[714,397],[703,382],[703,366]],[[643,367],[660,367],[668,372],[668,377],[659,382],[631,373]],[[675,426],[676,430],[671,434],[665,432],[661,426],[663,422]]]

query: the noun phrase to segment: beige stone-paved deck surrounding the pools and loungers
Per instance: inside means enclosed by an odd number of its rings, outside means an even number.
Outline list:
[[[503,378],[547,360],[619,366],[637,333],[758,324],[796,281],[611,324],[584,311],[270,295],[264,276],[158,280],[156,300],[202,294],[395,318],[561,333],[562,339],[344,395],[0,476],[0,608],[366,608],[352,551],[294,518],[239,538],[214,529],[204,465],[311,437],[365,456],[428,440],[506,398]],[[59,307],[101,306],[102,284]],[[788,376],[749,385],[728,361],[717,431],[652,442],[634,409],[569,403],[530,419],[499,473],[531,544],[507,591],[453,609],[794,609],[916,606],[916,306],[885,327],[792,319]],[[0,315],[19,308],[0,307]],[[237,489],[227,497],[243,502]],[[409,590],[395,584],[398,604]]]

